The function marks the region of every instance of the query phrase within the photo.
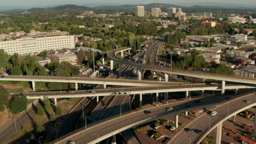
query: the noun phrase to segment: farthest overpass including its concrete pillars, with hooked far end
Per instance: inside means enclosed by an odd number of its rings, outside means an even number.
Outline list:
[[[175,74],[175,75],[184,75],[184,76],[191,76],[191,77],[197,77],[200,79],[212,79],[212,80],[219,80],[222,81],[222,94],[225,92],[225,82],[237,82],[237,83],[249,83],[256,85],[256,79],[253,78],[245,78],[240,76],[229,76],[229,75],[219,75],[219,74],[211,74],[211,73],[200,73],[196,71],[189,71],[189,70],[177,70],[177,69],[171,69],[167,67],[159,67],[157,65],[146,65],[141,63],[132,62],[127,59],[123,59],[123,55],[121,57],[118,57],[117,53],[123,53],[124,51],[130,50],[131,47],[123,47],[120,49],[110,50],[107,52],[107,56],[111,59],[110,61],[110,70],[113,70],[113,61],[117,62],[119,67],[121,67],[122,64],[129,65],[131,67],[137,67],[138,68],[138,80],[142,80],[142,70],[148,69],[148,70],[154,70],[159,71],[161,73],[165,74],[165,81],[168,81],[168,75],[167,74]],[[119,75],[121,74],[121,71],[119,71]]]

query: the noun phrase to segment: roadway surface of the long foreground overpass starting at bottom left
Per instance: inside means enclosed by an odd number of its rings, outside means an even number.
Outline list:
[[[73,140],[75,143],[96,143],[106,139],[107,137],[117,134],[120,131],[135,127],[136,124],[140,125],[146,122],[154,121],[155,119],[166,117],[168,115],[174,115],[176,113],[182,113],[184,111],[189,111],[193,109],[200,109],[203,107],[213,106],[219,104],[221,101],[225,100],[225,97],[213,96],[207,98],[201,98],[200,103],[195,103],[195,100],[184,100],[177,101],[171,104],[166,104],[162,106],[153,107],[149,110],[152,112],[150,114],[144,114],[142,111],[131,112],[127,115],[122,115],[121,117],[111,118],[110,121],[105,121],[88,127],[88,129],[81,131],[80,133],[71,135],[68,139],[61,140],[59,142],[53,141],[54,143],[65,143],[68,140]],[[173,107],[173,111],[167,112],[166,107]],[[127,125],[130,125],[129,127]],[[127,127],[126,127],[127,126]],[[120,129],[120,131],[118,130]],[[116,131],[118,130],[118,131]],[[106,135],[107,137],[102,137]],[[96,140],[97,139],[97,140]]]

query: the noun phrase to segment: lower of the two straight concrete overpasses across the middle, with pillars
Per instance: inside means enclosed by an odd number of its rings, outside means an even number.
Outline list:
[[[227,85],[226,89],[234,89],[237,93],[241,88],[256,88],[255,85]],[[188,90],[189,89],[189,90]],[[107,89],[90,89],[79,91],[51,91],[51,92],[26,92],[28,99],[44,99],[54,98],[55,104],[57,104],[58,98],[78,98],[78,97],[99,97],[110,95],[134,95],[139,94],[140,106],[142,106],[142,94],[156,93],[156,103],[158,103],[159,93],[167,92],[185,92],[185,98],[189,97],[190,91],[221,91],[222,87],[218,84],[206,85],[205,83],[196,84],[179,84],[168,86],[149,86],[149,87],[123,87],[123,88],[107,88]],[[14,93],[14,95],[20,95],[20,93]],[[167,100],[165,95],[165,100]]]

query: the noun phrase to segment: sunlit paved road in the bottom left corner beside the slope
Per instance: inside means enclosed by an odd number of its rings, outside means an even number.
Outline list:
[[[10,137],[15,134],[16,129],[20,128],[28,121],[36,116],[36,111],[34,108],[38,106],[38,103],[28,108],[26,111],[22,112],[18,117],[15,118],[15,123],[11,120],[8,124],[1,127],[0,131],[0,143],[7,143],[10,140]],[[16,129],[15,129],[16,124]]]

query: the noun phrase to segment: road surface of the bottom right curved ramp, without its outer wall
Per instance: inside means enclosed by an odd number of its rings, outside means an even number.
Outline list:
[[[199,134],[195,133],[196,130],[207,130],[209,128],[209,124],[211,124],[211,128],[216,125],[221,118],[226,117],[228,113],[231,115],[232,111],[237,109],[242,109],[246,105],[249,105],[249,103],[245,103],[243,100],[250,100],[251,103],[256,102],[256,93],[248,94],[244,97],[240,97],[236,100],[229,101],[228,103],[224,105],[219,105],[212,109],[211,111],[217,111],[218,114],[216,116],[211,116],[208,113],[204,113],[200,117],[197,117],[193,122],[188,124],[186,128],[193,129],[193,132],[188,133],[186,130],[183,129],[179,131],[177,135],[173,137],[171,141],[168,143],[183,143],[183,144],[189,144],[191,140],[191,143],[199,142],[198,136]],[[256,103],[255,103],[256,105]],[[233,114],[234,115],[234,114]],[[209,123],[210,122],[210,123]],[[184,137],[188,137],[188,139],[184,139]]]

